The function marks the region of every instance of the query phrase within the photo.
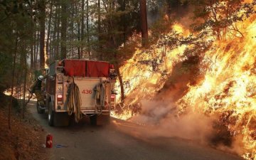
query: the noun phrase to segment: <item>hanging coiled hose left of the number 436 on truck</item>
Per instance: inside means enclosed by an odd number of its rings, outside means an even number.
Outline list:
[[[82,105],[82,100],[80,96],[80,91],[78,85],[75,82],[70,83],[68,86],[68,114],[75,114],[75,122],[79,122],[82,119],[82,113],[80,111],[80,107]]]

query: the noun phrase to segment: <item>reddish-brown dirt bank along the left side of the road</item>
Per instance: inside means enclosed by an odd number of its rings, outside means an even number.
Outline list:
[[[48,159],[46,132],[26,112],[25,118],[14,109],[11,113],[11,130],[8,129],[8,108],[0,105],[0,160]]]

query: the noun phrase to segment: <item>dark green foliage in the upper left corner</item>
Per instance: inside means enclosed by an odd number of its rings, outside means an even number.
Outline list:
[[[23,57],[28,53],[31,31],[27,14],[28,1],[0,2],[0,92],[11,87],[14,53],[16,53],[17,75],[24,69]],[[25,7],[26,6],[26,7]]]

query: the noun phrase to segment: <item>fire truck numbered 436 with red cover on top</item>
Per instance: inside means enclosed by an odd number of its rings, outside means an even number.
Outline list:
[[[65,126],[70,117],[78,122],[82,115],[97,124],[99,117],[110,119],[116,103],[114,66],[104,61],[56,60],[46,71],[45,107],[50,126]],[[105,118],[106,119],[106,118]]]

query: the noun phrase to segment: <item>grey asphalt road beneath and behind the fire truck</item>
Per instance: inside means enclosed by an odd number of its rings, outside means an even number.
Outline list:
[[[85,118],[70,127],[49,127],[47,115],[36,112],[35,102],[28,108],[46,132],[53,134],[50,160],[242,160],[184,139],[138,137],[140,126],[114,118],[107,126],[91,126]]]

